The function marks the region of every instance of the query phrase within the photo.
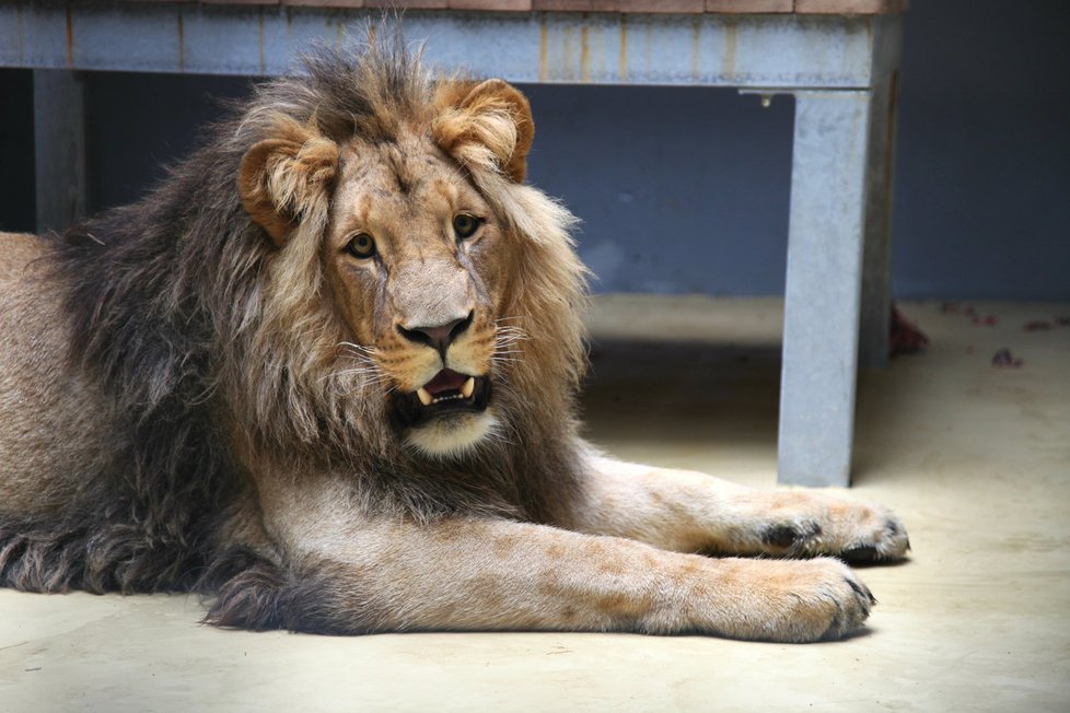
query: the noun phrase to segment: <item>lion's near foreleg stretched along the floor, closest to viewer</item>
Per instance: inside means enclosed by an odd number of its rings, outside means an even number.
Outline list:
[[[279,626],[299,630],[696,631],[813,641],[857,628],[872,604],[835,560],[712,560],[509,521],[374,522],[292,535],[287,549],[300,574],[272,608],[282,611]]]

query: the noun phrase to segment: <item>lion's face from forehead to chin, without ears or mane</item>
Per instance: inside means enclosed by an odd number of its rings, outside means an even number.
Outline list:
[[[339,151],[325,273],[352,355],[423,452],[463,451],[495,425],[502,242],[490,206],[426,137]]]

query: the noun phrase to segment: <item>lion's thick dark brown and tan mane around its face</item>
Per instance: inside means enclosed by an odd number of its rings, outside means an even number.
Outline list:
[[[584,273],[571,215],[479,155],[462,157],[508,229],[502,316],[519,318],[508,324],[523,338],[496,373],[501,437],[435,463],[399,445],[383,399],[367,398],[381,386],[340,361],[317,258],[329,191],[294,194],[296,229],[280,260],[235,187],[243,155],[280,127],[311,126],[337,142],[392,141],[403,125],[431,131],[443,120],[437,93],[456,81],[421,68],[398,37],[315,50],[302,72],[256,87],[143,200],[54,238],[68,367],[90,375],[102,414],[119,428],[100,471],[71,475],[85,484],[63,522],[0,522],[2,584],[196,589],[219,595],[217,622],[293,626],[284,612],[301,609],[291,605],[311,597],[315,581],[233,538],[235,522],[257,516],[239,442],[295,478],[350,469],[354,507],[369,513],[550,518],[555,500],[577,487]]]

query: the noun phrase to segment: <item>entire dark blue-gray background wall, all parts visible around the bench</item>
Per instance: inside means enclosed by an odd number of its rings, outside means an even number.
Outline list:
[[[1070,300],[1070,2],[917,0],[897,151],[894,291]],[[30,227],[28,92],[0,73],[0,226]],[[133,200],[246,80],[93,74],[97,208]],[[792,102],[531,85],[531,179],[584,223],[600,291],[783,289]],[[27,159],[28,156],[28,159]],[[28,161],[28,167],[27,167]],[[28,195],[32,206],[32,194]]]

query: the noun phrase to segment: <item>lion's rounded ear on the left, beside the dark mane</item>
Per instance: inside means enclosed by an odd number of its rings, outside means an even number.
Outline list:
[[[292,119],[280,119],[275,135],[245,153],[237,190],[253,221],[282,246],[302,215],[327,197],[338,144]]]

